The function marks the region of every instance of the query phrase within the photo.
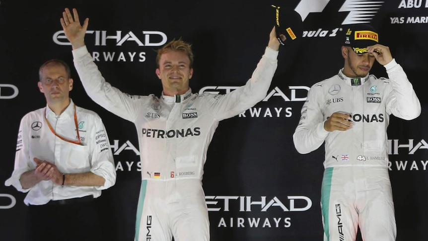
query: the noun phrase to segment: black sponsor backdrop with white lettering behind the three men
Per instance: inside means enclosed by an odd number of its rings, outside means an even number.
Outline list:
[[[193,43],[194,92],[225,93],[244,84],[268,43],[275,20],[271,4],[296,9],[304,37],[281,48],[267,98],[217,128],[203,179],[212,240],[322,239],[323,147],[300,155],[292,133],[309,86],[343,67],[338,35],[361,21],[379,30],[380,42],[390,47],[422,103],[415,120],[392,117],[388,133],[397,240],[427,240],[428,0],[0,0],[1,182],[13,170],[20,119],[45,105],[37,89],[39,66],[53,58],[72,65],[71,46],[60,32],[65,7],[77,8],[81,21],[89,17],[85,41],[109,82],[130,94],[159,95],[154,50],[180,37]],[[371,74],[386,77],[378,63]],[[74,70],[72,75],[71,98],[103,118],[117,165],[116,185],[97,200],[102,235],[131,241],[141,183],[135,127],[94,103]],[[25,236],[24,196],[0,185],[1,240]]]

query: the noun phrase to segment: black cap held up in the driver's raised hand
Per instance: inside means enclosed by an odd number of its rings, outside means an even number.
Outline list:
[[[282,45],[289,45],[302,38],[303,21],[300,14],[291,8],[272,6],[276,8],[275,31],[278,41]]]

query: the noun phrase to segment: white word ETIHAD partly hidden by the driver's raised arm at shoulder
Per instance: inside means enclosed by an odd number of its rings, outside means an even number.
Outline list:
[[[199,94],[213,93],[213,94],[227,94],[239,88],[239,86],[205,86],[199,90]],[[273,96],[282,97],[285,101],[306,101],[307,93],[310,89],[308,86],[288,86],[289,92],[287,95],[279,88],[272,89],[262,101],[268,101]]]

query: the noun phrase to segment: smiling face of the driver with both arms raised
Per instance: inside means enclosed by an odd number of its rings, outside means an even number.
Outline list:
[[[160,56],[156,75],[162,81],[163,94],[173,96],[189,90],[193,75],[190,65],[189,57],[182,51],[168,51]]]

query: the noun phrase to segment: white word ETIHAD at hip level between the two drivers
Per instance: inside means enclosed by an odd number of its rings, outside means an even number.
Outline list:
[[[239,212],[251,212],[252,207],[259,207],[261,212],[266,212],[272,207],[280,208],[284,212],[303,212],[312,207],[312,200],[306,196],[287,196],[287,198],[287,205],[278,197],[273,197],[267,202],[266,196],[257,198],[257,201],[252,200],[251,196],[205,196],[205,202],[208,211],[214,212],[221,210],[229,212],[230,208],[238,208]]]

